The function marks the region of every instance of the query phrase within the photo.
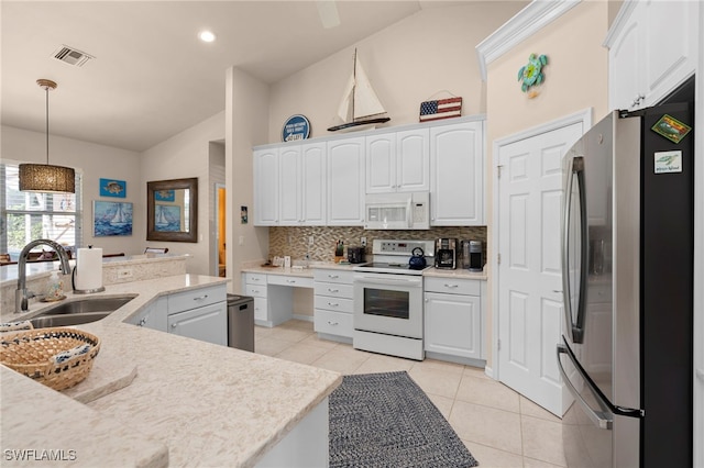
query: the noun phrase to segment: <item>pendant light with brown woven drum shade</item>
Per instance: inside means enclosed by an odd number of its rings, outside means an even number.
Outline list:
[[[37,79],[36,83],[46,91],[46,164],[20,165],[20,191],[75,193],[76,172],[74,169],[48,164],[48,91],[56,89],[56,82],[48,79]]]

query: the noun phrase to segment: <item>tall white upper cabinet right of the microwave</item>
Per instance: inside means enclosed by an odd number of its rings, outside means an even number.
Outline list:
[[[484,225],[484,124],[430,129],[430,225]]]

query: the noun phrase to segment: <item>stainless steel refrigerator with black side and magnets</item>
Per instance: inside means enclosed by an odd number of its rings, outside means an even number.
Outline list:
[[[692,466],[693,119],[615,111],[563,158],[570,467]]]

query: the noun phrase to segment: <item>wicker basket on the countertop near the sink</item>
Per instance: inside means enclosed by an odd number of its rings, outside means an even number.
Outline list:
[[[68,327],[35,328],[0,339],[3,365],[54,390],[82,381],[100,350],[97,336]]]

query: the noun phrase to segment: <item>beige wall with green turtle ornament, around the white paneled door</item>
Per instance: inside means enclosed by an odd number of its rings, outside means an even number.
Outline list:
[[[488,66],[487,213],[494,212],[494,141],[584,109],[593,109],[594,122],[608,112],[608,51],[602,46],[608,21],[607,2],[583,1]],[[534,99],[520,90],[517,81],[518,70],[531,53],[549,57],[544,69],[546,82]],[[492,222],[487,229],[491,244],[494,235]],[[490,258],[495,256],[491,245],[488,255]],[[492,286],[490,282],[490,299]],[[490,313],[487,343],[493,341],[492,316]],[[488,365],[492,365],[491,348]]]

